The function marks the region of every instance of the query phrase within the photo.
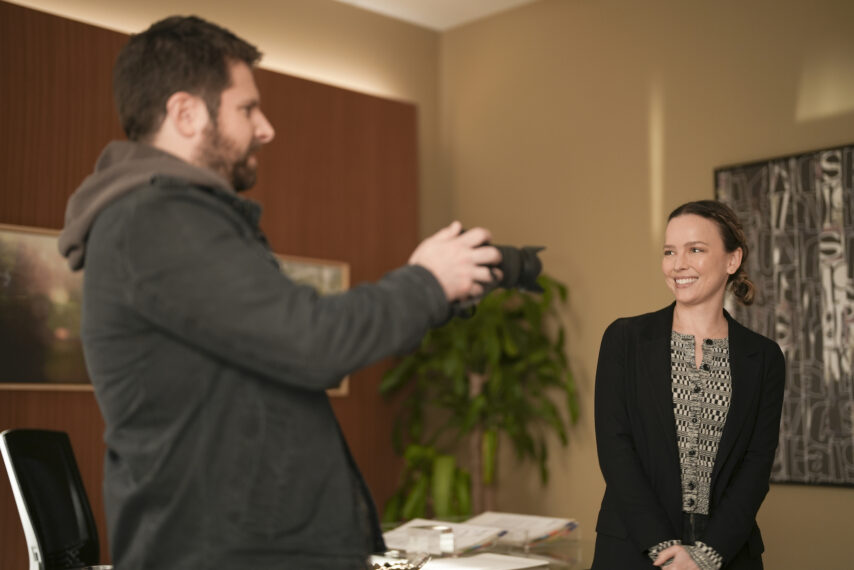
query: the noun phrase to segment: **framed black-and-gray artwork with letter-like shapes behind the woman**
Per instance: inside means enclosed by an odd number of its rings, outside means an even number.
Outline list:
[[[721,167],[715,189],[757,287],[727,308],[786,356],[771,480],[854,486],[854,145]]]

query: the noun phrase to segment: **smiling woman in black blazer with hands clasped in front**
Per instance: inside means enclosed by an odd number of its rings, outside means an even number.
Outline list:
[[[785,362],[776,343],[724,311],[728,287],[753,301],[747,254],[727,206],[683,204],[668,218],[661,260],[675,302],[605,331],[595,416],[606,489],[594,569],[762,568],[756,513]]]

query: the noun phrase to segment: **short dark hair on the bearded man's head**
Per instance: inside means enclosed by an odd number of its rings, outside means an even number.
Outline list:
[[[261,59],[252,44],[197,16],[172,16],[131,36],[113,68],[113,95],[128,138],[145,140],[166,115],[166,101],[186,91],[201,97],[216,124],[229,65]]]

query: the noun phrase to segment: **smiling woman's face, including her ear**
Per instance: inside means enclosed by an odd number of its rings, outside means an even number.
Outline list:
[[[727,252],[712,220],[685,214],[668,222],[661,270],[677,303],[723,306],[727,279],[740,264],[741,249]]]

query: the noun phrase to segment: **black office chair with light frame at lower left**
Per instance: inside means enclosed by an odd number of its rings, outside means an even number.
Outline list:
[[[68,435],[6,430],[0,451],[24,527],[29,570],[112,568],[97,565],[98,530]]]

